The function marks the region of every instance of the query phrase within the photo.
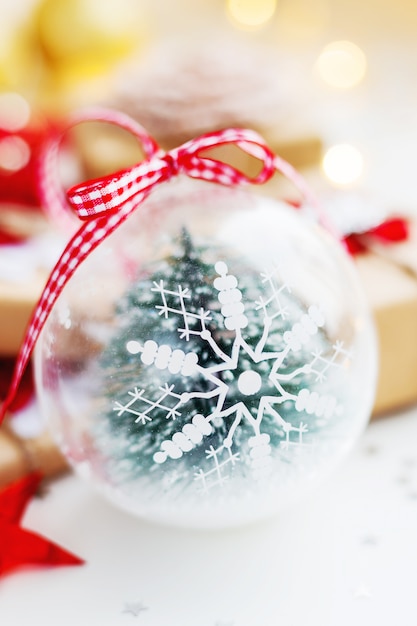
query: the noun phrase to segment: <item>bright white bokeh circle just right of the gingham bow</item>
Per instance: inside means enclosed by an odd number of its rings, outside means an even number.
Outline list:
[[[354,146],[342,143],[329,148],[323,157],[323,171],[336,185],[351,185],[363,174],[364,159]]]

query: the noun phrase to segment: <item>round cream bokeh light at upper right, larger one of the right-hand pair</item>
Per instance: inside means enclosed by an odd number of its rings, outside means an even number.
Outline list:
[[[366,56],[351,41],[334,41],[320,53],[316,69],[320,78],[332,87],[350,89],[366,74]]]

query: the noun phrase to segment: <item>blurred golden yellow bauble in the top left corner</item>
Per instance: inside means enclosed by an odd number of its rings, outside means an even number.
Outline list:
[[[40,0],[15,28],[0,24],[0,90],[54,111],[86,104],[151,32],[140,0]]]

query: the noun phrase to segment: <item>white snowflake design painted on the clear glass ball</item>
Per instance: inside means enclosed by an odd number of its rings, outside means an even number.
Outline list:
[[[262,422],[266,414],[272,416],[285,433],[281,442],[283,448],[302,446],[303,435],[308,431],[307,424],[302,420],[294,426],[282,417],[279,405],[284,402],[292,402],[296,412],[304,412],[307,416],[314,415],[322,420],[329,420],[335,414],[340,414],[341,406],[334,396],[320,395],[307,387],[301,388],[297,394],[294,394],[287,391],[285,385],[300,374],[315,377],[316,382],[322,382],[330,368],[338,367],[342,361],[350,358],[343,348],[343,343],[335,342],[330,356],[325,356],[318,350],[313,351],[309,362],[295,367],[289,373],[283,373],[280,370],[288,355],[299,351],[318,332],[318,329],[324,326],[325,320],[322,312],[317,306],[310,306],[307,312],[284,332],[283,349],[268,351],[266,344],[273,320],[277,317],[285,319],[288,316],[283,292],[289,291],[289,288],[286,283],[278,284],[279,270],[274,267],[271,272],[261,274],[261,281],[270,295],[265,299],[261,297],[255,302],[256,310],[263,317],[263,330],[257,345],[252,347],[245,340],[242,332],[248,325],[248,318],[245,315],[245,304],[242,301],[242,292],[238,288],[237,278],[229,274],[228,267],[223,261],[215,264],[215,270],[218,276],[213,286],[217,291],[224,326],[233,337],[230,354],[226,354],[219,347],[212,332],[207,328],[208,322],[212,319],[211,311],[204,309],[199,312],[188,311],[187,302],[193,297],[190,290],[181,285],[175,290],[168,289],[163,280],[154,282],[152,288],[152,291],[160,296],[161,304],[156,306],[159,315],[165,319],[175,318],[175,316],[179,318],[181,323],[177,331],[180,339],[186,344],[191,336],[198,336],[203,342],[207,342],[217,355],[219,362],[210,367],[204,367],[199,364],[198,355],[195,352],[173,350],[169,345],[159,345],[152,339],[145,341],[143,345],[134,340],[127,344],[127,350],[132,354],[140,355],[145,367],[168,370],[173,376],[200,375],[211,384],[211,388],[208,391],[178,393],[175,390],[175,384],[165,384],[159,387],[159,397],[150,399],[146,397],[145,389],[135,387],[128,392],[127,402],[116,402],[114,405],[114,410],[119,416],[130,413],[134,416],[135,422],[146,428],[146,424],[152,421],[153,411],[162,411],[167,419],[175,420],[181,416],[183,407],[194,399],[205,398],[213,402],[213,409],[209,415],[194,415],[191,421],[175,432],[171,438],[162,441],[160,449],[153,456],[156,464],[163,464],[167,459],[181,458],[184,453],[195,448],[204,437],[213,432],[216,420],[232,418],[222,444],[216,449],[210,446],[206,450],[206,458],[212,462],[212,468],[209,471],[200,469],[195,473],[195,478],[204,491],[223,485],[228,478],[227,469],[240,462],[239,452],[233,452],[232,447],[236,429],[242,420],[245,420],[253,430],[253,435],[247,439],[247,445],[250,449],[251,470],[254,477],[258,479],[269,474],[272,463],[270,436],[262,430]],[[172,305],[173,302],[176,304]],[[254,367],[240,373],[237,380],[239,401],[230,405],[227,402],[229,385],[219,374],[236,370],[242,353],[246,355],[246,358],[249,357]],[[263,380],[256,365],[261,362],[268,364],[268,384],[273,392],[259,396]],[[253,400],[257,395],[259,402],[254,415],[248,408],[248,401],[251,398]]]

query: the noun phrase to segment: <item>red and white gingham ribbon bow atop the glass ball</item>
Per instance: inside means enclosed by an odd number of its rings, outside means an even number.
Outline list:
[[[83,121],[104,121],[133,133],[142,145],[145,160],[114,175],[77,185],[65,196],[58,183],[58,153],[62,137],[54,137],[49,142],[40,166],[39,185],[43,205],[54,219],[62,219],[62,216],[68,215],[68,200],[83,223],[52,270],[32,314],[12,383],[1,407],[0,423],[15,397],[36,341],[64,286],[84,259],[124,222],[156,186],[179,174],[228,186],[263,184],[275,171],[279,171],[298,187],[310,205],[317,206],[302,176],[289,163],[274,155],[263,138],[252,130],[230,128],[208,133],[163,152],[140,124],[122,113],[107,109],[87,110],[74,117],[68,127]],[[225,144],[234,144],[259,159],[260,172],[251,177],[227,163],[202,154]]]

